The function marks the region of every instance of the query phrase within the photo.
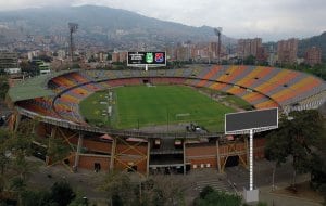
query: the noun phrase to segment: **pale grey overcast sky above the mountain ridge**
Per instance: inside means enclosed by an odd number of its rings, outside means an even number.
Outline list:
[[[326,0],[0,0],[0,10],[97,4],[190,26],[223,27],[234,38],[263,41],[326,31]]]

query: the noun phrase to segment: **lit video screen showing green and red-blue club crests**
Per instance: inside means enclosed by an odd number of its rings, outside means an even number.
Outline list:
[[[165,66],[165,52],[128,52],[128,66],[135,65]]]

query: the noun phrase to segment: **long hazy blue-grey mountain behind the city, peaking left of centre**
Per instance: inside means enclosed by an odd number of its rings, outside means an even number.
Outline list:
[[[77,35],[105,42],[150,40],[176,43],[217,39],[213,28],[209,26],[187,26],[106,7],[83,5],[0,12],[0,27],[4,25],[25,35],[67,35],[68,22],[79,24]],[[225,36],[222,40],[225,44],[236,42]]]

